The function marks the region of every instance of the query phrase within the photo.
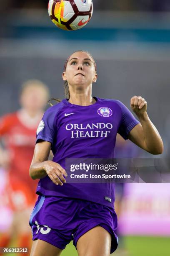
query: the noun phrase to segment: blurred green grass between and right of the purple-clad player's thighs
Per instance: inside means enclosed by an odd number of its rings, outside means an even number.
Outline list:
[[[167,237],[125,237],[128,256],[170,256],[170,238]],[[61,256],[77,256],[77,252],[70,243],[61,253]],[[113,256],[123,256],[119,253],[113,253]]]

